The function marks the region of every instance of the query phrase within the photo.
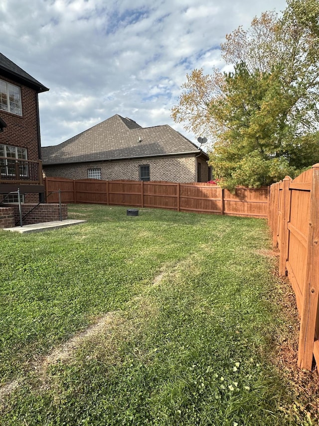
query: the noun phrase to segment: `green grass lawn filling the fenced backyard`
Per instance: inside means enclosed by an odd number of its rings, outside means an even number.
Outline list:
[[[0,383],[19,380],[0,392],[0,425],[316,424],[272,364],[291,325],[261,254],[266,221],[96,205],[69,217],[88,222],[0,231]]]

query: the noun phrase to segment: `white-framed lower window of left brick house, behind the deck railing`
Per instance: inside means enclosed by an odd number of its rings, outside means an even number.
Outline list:
[[[27,159],[27,152],[25,148],[0,144],[0,174],[2,177],[11,177],[11,179],[12,177],[15,177],[17,179],[18,177],[28,176],[28,167],[26,161],[17,162],[17,159]],[[17,169],[16,164],[18,164]],[[16,170],[18,170],[19,176],[15,175]]]

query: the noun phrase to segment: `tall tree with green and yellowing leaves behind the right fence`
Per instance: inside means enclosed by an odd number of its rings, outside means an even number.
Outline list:
[[[172,117],[209,131],[223,186],[267,185],[319,161],[318,45],[318,0],[289,0],[281,17],[264,12],[247,31],[226,35],[222,54],[233,72],[187,76]]]

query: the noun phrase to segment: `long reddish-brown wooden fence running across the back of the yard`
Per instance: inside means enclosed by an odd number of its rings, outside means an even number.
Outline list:
[[[235,194],[209,183],[134,180],[73,180],[46,177],[46,194],[61,190],[63,203],[155,207],[181,212],[267,218],[268,188],[237,188]],[[51,194],[47,202],[56,203]]]

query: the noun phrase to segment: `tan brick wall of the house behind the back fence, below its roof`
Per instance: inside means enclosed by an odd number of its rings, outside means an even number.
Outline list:
[[[207,162],[201,161],[202,176],[208,180]],[[139,166],[150,165],[150,179],[164,180],[169,182],[194,182],[195,175],[195,156],[171,156],[171,157],[153,157],[139,158],[132,160],[81,163],[70,165],[43,166],[43,170],[48,177],[63,177],[68,179],[87,179],[88,169],[101,169],[101,179],[116,180],[130,179],[140,180]]]

